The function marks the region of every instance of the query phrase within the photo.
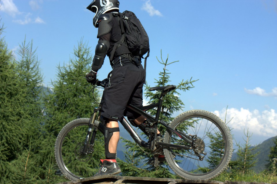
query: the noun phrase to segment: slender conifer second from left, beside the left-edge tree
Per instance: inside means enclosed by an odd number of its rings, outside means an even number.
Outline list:
[[[16,75],[23,85],[22,89],[25,93],[25,103],[22,104],[24,115],[22,116],[21,126],[25,130],[23,139],[23,152],[17,153],[16,160],[10,164],[13,175],[10,179],[18,183],[31,183],[39,179],[41,163],[43,160],[39,154],[41,147],[42,131],[42,74],[39,68],[38,56],[36,49],[33,49],[33,41],[26,43],[26,37],[18,50],[18,61],[16,61]],[[25,162],[23,161],[25,160]]]

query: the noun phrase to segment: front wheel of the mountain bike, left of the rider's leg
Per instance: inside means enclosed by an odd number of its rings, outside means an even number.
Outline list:
[[[83,153],[88,128],[89,118],[73,120],[63,127],[55,143],[57,165],[72,181],[93,176],[99,170],[100,159],[105,158],[103,125],[98,121],[94,122],[94,143]]]

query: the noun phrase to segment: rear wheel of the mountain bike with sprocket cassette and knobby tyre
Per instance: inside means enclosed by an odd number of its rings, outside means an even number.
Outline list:
[[[192,148],[164,149],[166,161],[177,175],[185,179],[208,180],[227,168],[233,152],[232,136],[226,124],[216,115],[203,110],[190,110],[177,116],[170,127],[192,141],[189,144],[170,131],[165,133],[165,143]]]

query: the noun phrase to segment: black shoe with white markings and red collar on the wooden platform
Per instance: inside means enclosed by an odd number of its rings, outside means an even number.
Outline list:
[[[102,176],[102,175],[116,175],[121,173],[121,170],[116,162],[116,160],[100,160],[102,166],[98,173],[94,176]]]

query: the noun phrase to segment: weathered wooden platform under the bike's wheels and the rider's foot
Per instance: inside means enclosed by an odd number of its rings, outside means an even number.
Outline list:
[[[171,178],[149,178],[149,177],[130,177],[130,176],[115,176],[104,175],[97,177],[89,177],[79,179],[76,182],[68,181],[57,184],[267,184],[254,182],[231,182],[231,181],[212,181],[212,180],[186,180],[186,179],[171,179]],[[276,183],[272,183],[276,184]]]

